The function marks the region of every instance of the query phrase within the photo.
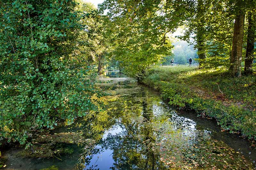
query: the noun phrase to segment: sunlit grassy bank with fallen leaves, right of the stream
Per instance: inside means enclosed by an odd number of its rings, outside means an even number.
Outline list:
[[[195,110],[231,133],[256,139],[256,76],[233,78],[225,70],[163,66],[148,70],[142,81],[171,105]]]

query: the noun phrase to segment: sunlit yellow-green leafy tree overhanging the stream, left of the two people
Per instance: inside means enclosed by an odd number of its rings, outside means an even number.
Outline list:
[[[167,8],[169,4],[162,3],[106,0],[100,5],[102,11],[108,9],[113,25],[116,60],[131,76],[139,78],[146,68],[161,62],[170,53],[172,46],[166,33],[177,26],[165,25],[163,6]]]

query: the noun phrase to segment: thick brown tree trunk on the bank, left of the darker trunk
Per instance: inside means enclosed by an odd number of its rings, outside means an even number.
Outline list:
[[[239,11],[236,15],[234,34],[232,42],[232,51],[230,56],[230,72],[235,77],[241,76],[241,61],[242,61],[242,45],[244,36],[244,17],[245,13]]]

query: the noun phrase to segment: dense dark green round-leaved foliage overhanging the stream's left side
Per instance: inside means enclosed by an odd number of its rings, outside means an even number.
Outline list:
[[[80,17],[73,0],[1,1],[1,143],[68,124],[95,109],[93,75],[79,63]]]

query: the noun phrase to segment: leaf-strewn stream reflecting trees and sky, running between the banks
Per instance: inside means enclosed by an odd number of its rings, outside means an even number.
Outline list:
[[[4,169],[256,169],[256,149],[215,120],[173,109],[118,71],[99,80],[105,109],[38,134],[31,148],[2,151]]]

